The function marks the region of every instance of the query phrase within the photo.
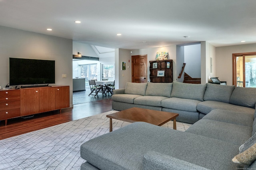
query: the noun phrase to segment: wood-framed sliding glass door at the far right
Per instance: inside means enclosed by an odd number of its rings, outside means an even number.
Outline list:
[[[256,53],[233,54],[233,84],[256,87]]]

